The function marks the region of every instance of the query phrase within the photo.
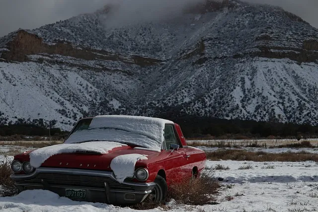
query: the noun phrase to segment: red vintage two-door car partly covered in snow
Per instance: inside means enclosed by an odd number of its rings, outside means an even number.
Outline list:
[[[61,144],[15,155],[11,179],[20,191],[131,205],[164,200],[172,183],[199,176],[205,162],[178,124],[107,115],[80,119]]]

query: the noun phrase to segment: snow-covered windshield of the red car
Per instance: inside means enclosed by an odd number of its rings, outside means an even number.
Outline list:
[[[108,126],[96,127],[92,124],[93,119],[82,119],[75,126],[65,143],[81,143],[87,141],[115,141],[145,148],[157,149],[161,146],[159,141],[144,134],[143,131],[120,129],[119,127]],[[122,127],[122,126],[120,126]]]

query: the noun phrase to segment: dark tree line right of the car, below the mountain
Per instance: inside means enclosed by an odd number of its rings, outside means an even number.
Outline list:
[[[216,138],[241,135],[248,138],[315,138],[318,126],[310,124],[279,123],[275,121],[226,120],[208,117],[177,117],[170,119],[178,123],[186,138]]]

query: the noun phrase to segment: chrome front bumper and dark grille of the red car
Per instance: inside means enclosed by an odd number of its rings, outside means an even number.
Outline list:
[[[50,190],[60,196],[65,189],[85,189],[88,202],[114,205],[140,203],[151,193],[155,183],[117,182],[112,172],[68,168],[37,168],[32,174],[12,174],[20,191]]]

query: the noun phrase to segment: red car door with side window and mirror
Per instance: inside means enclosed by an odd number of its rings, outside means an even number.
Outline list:
[[[179,149],[170,149],[170,144],[179,145]],[[174,125],[165,125],[164,146],[167,153],[165,160],[165,171],[167,183],[180,182],[191,174],[192,168],[189,167],[189,155],[186,148],[183,148],[178,139]],[[191,176],[191,175],[190,175]]]

